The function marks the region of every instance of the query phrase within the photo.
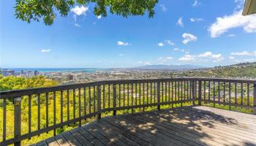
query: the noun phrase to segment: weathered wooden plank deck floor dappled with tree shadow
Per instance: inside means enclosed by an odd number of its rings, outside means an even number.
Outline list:
[[[203,106],[116,115],[37,145],[256,145],[256,115]]]

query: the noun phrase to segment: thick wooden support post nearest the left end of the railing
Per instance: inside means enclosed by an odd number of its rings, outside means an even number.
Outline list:
[[[14,98],[14,137],[20,136],[21,128],[21,97]],[[20,142],[15,142],[15,146],[20,146]]]

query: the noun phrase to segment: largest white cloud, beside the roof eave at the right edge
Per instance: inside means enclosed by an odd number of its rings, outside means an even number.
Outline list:
[[[242,9],[232,15],[217,18],[217,21],[208,28],[211,37],[219,37],[231,28],[243,28],[246,33],[256,32],[256,15],[243,16],[241,13]]]

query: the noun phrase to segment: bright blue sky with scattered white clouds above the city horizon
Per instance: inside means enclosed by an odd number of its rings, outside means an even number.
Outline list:
[[[148,15],[107,18],[77,6],[53,26],[14,16],[1,1],[1,67],[217,66],[256,61],[256,15],[243,0],[159,0]]]

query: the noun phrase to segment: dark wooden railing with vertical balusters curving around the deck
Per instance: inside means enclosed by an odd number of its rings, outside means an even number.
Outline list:
[[[73,123],[80,126],[82,120],[94,116],[100,119],[105,112],[116,115],[120,110],[160,110],[192,104],[223,105],[230,110],[239,107],[255,114],[256,80],[113,80],[0,92],[0,145],[20,145],[24,139],[49,131],[56,135],[57,128]]]

